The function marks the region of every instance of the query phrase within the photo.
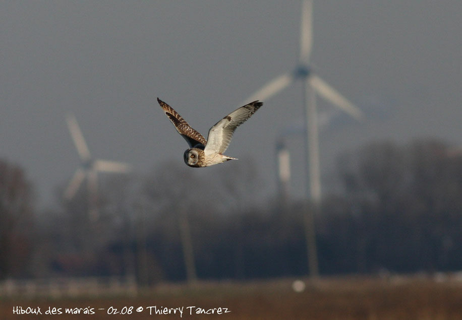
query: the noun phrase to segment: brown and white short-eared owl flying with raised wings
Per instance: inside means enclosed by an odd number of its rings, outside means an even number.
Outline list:
[[[237,160],[223,155],[223,152],[228,148],[236,128],[263,105],[257,100],[229,113],[210,128],[207,141],[177,111],[159,98],[157,101],[171,123],[175,125],[178,133],[185,138],[190,146],[183,155],[185,163],[196,168],[208,167],[228,160]]]

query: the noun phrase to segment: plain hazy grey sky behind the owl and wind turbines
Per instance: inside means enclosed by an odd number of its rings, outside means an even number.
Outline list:
[[[267,81],[297,63],[298,1],[0,2],[0,157],[19,163],[40,207],[79,164],[73,111],[92,156],[146,173],[183,164],[185,141],[157,105],[204,136]],[[335,113],[321,133],[324,186],[335,157],[377,139],[438,137],[462,145],[462,2],[315,1],[311,62],[368,118]],[[274,141],[303,117],[300,83],[264,101],[226,154],[261,164],[275,191]],[[318,99],[321,110],[332,106]],[[290,143],[295,196],[303,140]],[[222,166],[201,170],[213,179]]]

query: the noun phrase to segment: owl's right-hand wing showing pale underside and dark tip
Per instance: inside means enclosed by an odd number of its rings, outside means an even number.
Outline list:
[[[251,102],[234,110],[215,123],[208,132],[204,153],[206,155],[222,154],[228,148],[236,128],[250,118],[262,105],[263,103],[258,102],[258,100]]]

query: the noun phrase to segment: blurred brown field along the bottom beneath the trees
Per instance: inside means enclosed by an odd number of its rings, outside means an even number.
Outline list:
[[[460,279],[413,276],[304,280],[306,287],[302,292],[293,290],[294,279],[277,279],[245,283],[200,282],[194,286],[161,284],[139,290],[135,296],[8,297],[0,300],[0,318],[462,319]],[[42,314],[13,314],[14,308],[20,312],[18,306],[23,310],[30,307],[29,311],[39,307]],[[49,307],[50,311],[54,307],[56,313],[61,311],[62,314],[45,314]],[[66,308],[80,311],[80,314],[66,314]],[[116,312],[119,314],[114,314]]]

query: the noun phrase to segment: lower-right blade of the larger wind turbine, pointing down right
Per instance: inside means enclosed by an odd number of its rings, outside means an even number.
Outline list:
[[[324,80],[322,80],[318,76],[311,76],[310,84],[319,95],[329,100],[331,103],[333,103],[343,111],[347,112],[351,116],[355,117],[358,120],[364,117],[363,111],[361,111],[360,108],[348,101],[347,98],[343,97],[340,93],[338,93],[334,88],[329,86]]]

